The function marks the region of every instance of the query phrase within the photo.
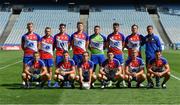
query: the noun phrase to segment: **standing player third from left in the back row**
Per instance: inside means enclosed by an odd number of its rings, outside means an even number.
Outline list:
[[[59,25],[60,32],[54,36],[56,48],[56,66],[63,60],[63,52],[70,49],[70,36],[66,34],[66,24]]]

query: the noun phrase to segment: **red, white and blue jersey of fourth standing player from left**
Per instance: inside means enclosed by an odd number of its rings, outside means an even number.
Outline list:
[[[86,33],[75,32],[71,35],[71,41],[73,43],[73,54],[83,54],[86,51],[86,42],[89,40],[89,36]]]

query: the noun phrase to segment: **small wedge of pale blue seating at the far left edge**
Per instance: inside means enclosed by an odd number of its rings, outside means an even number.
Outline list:
[[[9,17],[11,15],[11,12],[0,12],[0,36],[2,35],[7,23],[8,23],[8,20],[9,20]]]

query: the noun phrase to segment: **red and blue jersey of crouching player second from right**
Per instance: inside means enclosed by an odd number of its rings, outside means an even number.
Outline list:
[[[131,57],[126,60],[125,66],[129,67],[130,72],[139,72],[141,69],[144,69],[144,62],[141,58],[136,57],[133,60]]]

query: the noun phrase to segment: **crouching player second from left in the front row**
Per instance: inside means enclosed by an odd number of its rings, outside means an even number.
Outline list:
[[[75,88],[75,63],[72,59],[70,59],[67,51],[64,51],[63,60],[57,65],[56,68],[54,79],[57,82],[54,84],[54,87],[59,87],[59,82],[61,82],[62,87],[70,87],[71,85],[72,88]]]

